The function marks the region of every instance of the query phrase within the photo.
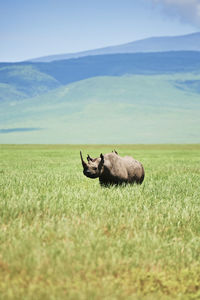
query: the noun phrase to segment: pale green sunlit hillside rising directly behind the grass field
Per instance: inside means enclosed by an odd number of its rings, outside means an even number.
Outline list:
[[[1,143],[199,143],[200,74],[96,77],[0,103]],[[26,130],[26,131],[23,131]],[[29,131],[30,129],[30,131]]]

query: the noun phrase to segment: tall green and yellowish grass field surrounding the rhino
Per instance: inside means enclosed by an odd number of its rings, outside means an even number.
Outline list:
[[[100,187],[117,149],[141,186]],[[199,299],[200,145],[0,146],[0,299]]]

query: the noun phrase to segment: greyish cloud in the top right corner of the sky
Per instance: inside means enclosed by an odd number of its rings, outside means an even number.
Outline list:
[[[162,7],[170,16],[178,16],[181,21],[200,27],[200,0],[151,0]]]

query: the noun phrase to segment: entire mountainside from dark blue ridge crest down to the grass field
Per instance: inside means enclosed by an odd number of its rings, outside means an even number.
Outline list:
[[[200,52],[0,63],[0,143],[199,143]]]

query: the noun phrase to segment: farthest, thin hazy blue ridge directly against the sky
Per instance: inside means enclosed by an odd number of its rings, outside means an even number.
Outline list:
[[[152,37],[118,46],[110,46],[77,53],[44,56],[31,59],[30,61],[51,62],[92,55],[167,51],[200,51],[200,32],[181,36]]]

